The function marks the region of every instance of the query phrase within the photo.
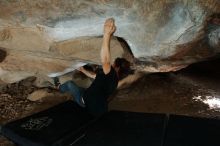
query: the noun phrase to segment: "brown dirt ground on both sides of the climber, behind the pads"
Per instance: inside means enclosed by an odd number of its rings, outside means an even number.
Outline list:
[[[219,62],[193,65],[173,73],[145,75],[113,94],[109,109],[220,118],[220,107],[215,105],[212,108],[204,102],[206,98],[220,100]],[[39,90],[33,86],[33,81],[34,78],[28,78],[1,88],[0,125],[70,100],[68,95],[52,88],[43,88],[53,94],[38,101],[29,101],[28,95]],[[13,145],[0,136],[0,146]]]

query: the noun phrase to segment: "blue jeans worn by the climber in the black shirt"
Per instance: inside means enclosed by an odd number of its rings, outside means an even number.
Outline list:
[[[67,81],[60,85],[59,90],[61,93],[69,93],[72,97],[75,97],[73,100],[79,106],[85,107],[82,99],[82,95],[85,92],[84,88],[77,86],[73,81]]]

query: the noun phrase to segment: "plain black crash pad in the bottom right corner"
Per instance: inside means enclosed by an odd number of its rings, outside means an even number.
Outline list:
[[[171,115],[164,146],[220,146],[220,120]]]

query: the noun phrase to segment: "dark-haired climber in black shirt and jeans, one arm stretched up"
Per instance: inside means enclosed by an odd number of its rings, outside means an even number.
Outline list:
[[[100,51],[101,71],[93,72],[80,67],[78,70],[94,81],[85,89],[77,86],[72,80],[64,84],[54,78],[55,86],[62,93],[70,93],[76,103],[84,107],[95,116],[100,116],[108,111],[108,97],[116,90],[118,82],[130,70],[130,63],[124,58],[116,58],[111,64],[110,41],[116,31],[113,18],[109,18],[104,24],[102,48]]]

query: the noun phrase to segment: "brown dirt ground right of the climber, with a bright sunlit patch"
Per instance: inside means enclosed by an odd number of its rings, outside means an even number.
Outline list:
[[[208,86],[183,74],[151,74],[130,88],[118,91],[110,102],[110,108],[215,118],[220,117],[220,105],[213,108],[205,101],[207,98],[220,101],[218,87],[219,84]]]

